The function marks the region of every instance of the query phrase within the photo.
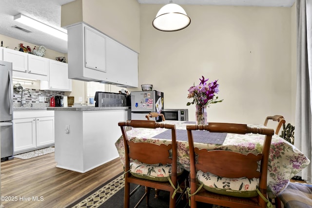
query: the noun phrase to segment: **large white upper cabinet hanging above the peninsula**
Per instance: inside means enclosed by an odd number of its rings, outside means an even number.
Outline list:
[[[70,79],[137,87],[137,53],[84,23],[67,27]]]

